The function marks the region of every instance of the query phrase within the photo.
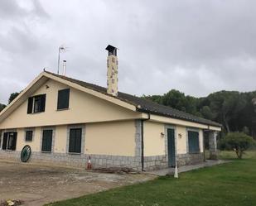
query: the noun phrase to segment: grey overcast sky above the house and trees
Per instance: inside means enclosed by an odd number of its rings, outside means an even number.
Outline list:
[[[118,89],[193,96],[255,90],[256,1],[0,1],[0,103],[43,68],[106,85],[108,44]]]

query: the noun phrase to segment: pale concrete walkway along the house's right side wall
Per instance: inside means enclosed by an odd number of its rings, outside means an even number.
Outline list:
[[[230,162],[229,160],[205,160],[205,162],[196,164],[196,165],[184,165],[178,168],[178,173],[186,172],[190,170],[197,170],[204,167],[210,167],[214,165],[220,165]],[[148,171],[147,174],[151,175],[157,175],[157,176],[165,176],[165,175],[173,175],[174,174],[174,168],[167,168],[162,170],[154,170],[154,171]]]

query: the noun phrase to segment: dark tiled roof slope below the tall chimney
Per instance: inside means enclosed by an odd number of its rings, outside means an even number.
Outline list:
[[[94,91],[97,91],[99,93],[104,93],[106,95],[110,95],[111,97],[114,97],[111,94],[107,93],[106,88],[98,86],[96,84],[89,84],[84,81],[80,81],[78,79],[72,79],[70,77],[66,77],[66,76],[59,75],[59,74],[54,74],[54,73],[51,73],[48,71],[46,71],[46,73],[55,75],[56,77],[65,79],[72,83],[79,84],[80,86],[85,87],[87,89],[93,89]],[[201,118],[201,117],[196,117],[195,115],[192,115],[189,113],[184,113],[177,109],[164,106],[162,104],[153,103],[152,101],[150,101],[148,99],[139,98],[139,97],[136,97],[136,96],[128,94],[128,93],[118,92],[118,96],[114,97],[114,98],[118,98],[126,103],[133,104],[139,112],[157,114],[157,115],[164,116],[164,117],[172,117],[172,118],[186,120],[186,121],[190,121],[190,122],[197,122],[197,123],[202,123],[202,124],[206,124],[206,125],[210,125],[210,126],[221,127],[220,123],[213,122],[208,119]]]

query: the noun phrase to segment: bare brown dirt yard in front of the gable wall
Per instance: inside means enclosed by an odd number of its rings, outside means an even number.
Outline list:
[[[105,189],[152,180],[152,175],[116,175],[75,168],[0,161],[0,202],[21,199],[43,205]]]

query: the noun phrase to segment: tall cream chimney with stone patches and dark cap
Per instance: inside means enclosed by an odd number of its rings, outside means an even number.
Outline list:
[[[106,50],[109,51],[107,66],[108,66],[108,80],[107,80],[107,93],[118,96],[118,48],[114,46],[107,46]]]

